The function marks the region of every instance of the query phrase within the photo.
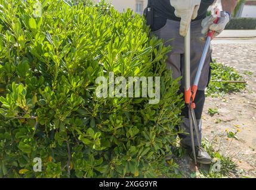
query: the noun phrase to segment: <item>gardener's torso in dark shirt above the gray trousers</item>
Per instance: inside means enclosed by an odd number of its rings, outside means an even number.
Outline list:
[[[214,1],[215,0],[202,0],[198,10],[198,17],[196,17],[195,20],[205,18],[207,9]],[[176,17],[174,14],[175,9],[171,6],[170,0],[149,0],[149,6],[153,7],[155,14],[160,17],[180,21],[180,18]]]

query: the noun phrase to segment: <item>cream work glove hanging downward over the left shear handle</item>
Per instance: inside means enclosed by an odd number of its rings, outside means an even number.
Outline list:
[[[175,8],[176,17],[181,18],[180,35],[186,36],[191,20],[198,16],[201,0],[170,0],[170,2]]]

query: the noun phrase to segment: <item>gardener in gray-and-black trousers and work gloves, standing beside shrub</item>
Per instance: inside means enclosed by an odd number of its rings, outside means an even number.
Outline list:
[[[167,68],[172,69],[172,77],[178,78],[183,75],[184,64],[184,36],[187,34],[189,24],[191,23],[191,81],[195,80],[196,71],[205,46],[206,33],[209,30],[216,31],[215,36],[221,33],[230,20],[230,12],[236,7],[236,0],[222,1],[223,10],[217,24],[214,24],[215,18],[211,15],[206,17],[207,9],[215,0],[149,0],[148,7],[144,11],[147,23],[153,33],[163,39],[165,45],[171,45],[172,51],[168,55],[166,62]],[[215,37],[214,36],[214,37]],[[212,49],[210,48],[206,56],[205,65],[198,85],[198,93],[195,97],[196,119],[199,127],[200,141],[202,138],[202,110],[205,103],[205,88],[210,78],[210,62]],[[182,81],[181,81],[182,84]],[[181,85],[181,91],[183,90]],[[180,128],[187,134],[190,133],[189,117],[187,107],[182,111],[184,116]],[[194,133],[195,134],[195,133]],[[192,153],[192,144],[190,135],[180,134],[181,145]],[[195,144],[196,136],[194,137]],[[198,144],[196,144],[198,146]],[[192,154],[190,154],[192,156]],[[203,148],[199,151],[196,148],[196,160],[198,163],[210,164],[211,157]]]

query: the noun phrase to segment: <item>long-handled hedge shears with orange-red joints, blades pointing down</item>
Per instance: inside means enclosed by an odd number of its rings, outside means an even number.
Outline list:
[[[218,23],[220,10],[215,9],[215,17],[214,24]],[[196,140],[198,141],[198,149],[199,152],[201,151],[201,143],[199,140],[199,128],[196,121],[196,115],[195,115],[195,97],[196,97],[196,91],[198,90],[198,83],[199,79],[201,77],[203,65],[205,64],[205,58],[209,50],[209,46],[211,44],[211,40],[213,39],[215,34],[215,31],[209,31],[207,33],[206,43],[205,47],[203,49],[201,61],[198,66],[198,71],[196,73],[196,78],[193,83],[193,86],[191,87],[190,84],[190,26],[189,30],[187,32],[187,35],[185,36],[185,44],[184,44],[184,54],[185,54],[185,65],[184,65],[184,97],[185,97],[185,103],[189,109],[189,125],[190,125],[190,135],[191,135],[191,143],[192,143],[192,151],[193,151],[193,157],[195,159],[196,164],[196,150],[195,150],[195,142],[194,142],[194,131],[193,126],[195,128],[196,132]]]

